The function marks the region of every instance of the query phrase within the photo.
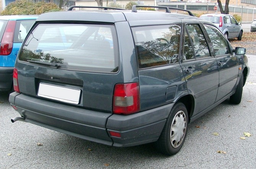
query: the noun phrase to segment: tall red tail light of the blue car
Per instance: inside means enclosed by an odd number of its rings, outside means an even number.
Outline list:
[[[0,55],[9,55],[13,50],[13,36],[16,21],[8,21],[0,46]]]

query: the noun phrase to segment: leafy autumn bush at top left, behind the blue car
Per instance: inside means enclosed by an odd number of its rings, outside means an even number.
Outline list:
[[[32,0],[16,0],[9,3],[1,15],[32,15],[49,11],[61,11],[61,9],[55,3],[34,3]]]

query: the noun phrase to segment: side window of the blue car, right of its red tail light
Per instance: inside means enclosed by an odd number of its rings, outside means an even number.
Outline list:
[[[22,43],[36,19],[16,21],[13,43]]]

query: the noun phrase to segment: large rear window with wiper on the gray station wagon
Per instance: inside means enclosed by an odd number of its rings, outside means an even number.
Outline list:
[[[118,70],[117,56],[113,25],[38,24],[18,58],[31,64],[114,73]]]

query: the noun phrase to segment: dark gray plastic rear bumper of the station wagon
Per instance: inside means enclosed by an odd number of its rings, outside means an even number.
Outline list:
[[[26,122],[81,139],[127,147],[156,141],[164,128],[172,105],[133,115],[113,115],[84,108],[58,104],[13,92],[9,101]],[[119,132],[120,137],[110,136]]]

